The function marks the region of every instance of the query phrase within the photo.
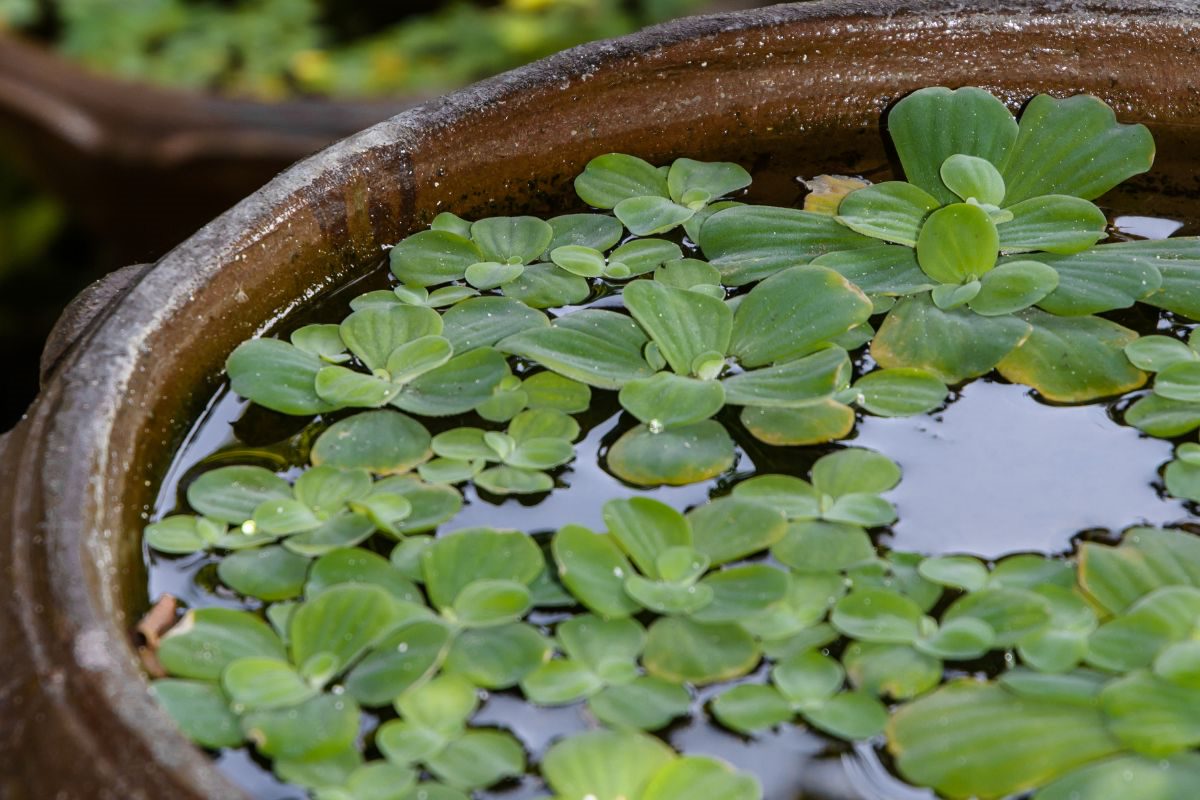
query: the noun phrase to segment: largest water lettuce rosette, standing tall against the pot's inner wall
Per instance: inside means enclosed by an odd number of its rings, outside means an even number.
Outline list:
[[[1106,223],[1088,200],[1150,168],[1150,132],[1086,96],[1038,96],[1018,125],[970,88],[908,95],[888,131],[907,182],[850,192],[836,216],[721,211],[701,230],[706,255],[732,283],[797,261],[838,270],[890,306],[871,344],[884,367],[949,384],[995,367],[1062,402],[1136,389],[1145,375],[1120,353],[1136,335],[1092,314],[1144,299],[1189,308],[1156,258],[1182,245],[1093,247]]]

